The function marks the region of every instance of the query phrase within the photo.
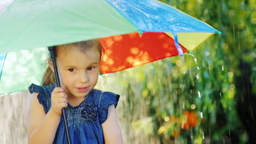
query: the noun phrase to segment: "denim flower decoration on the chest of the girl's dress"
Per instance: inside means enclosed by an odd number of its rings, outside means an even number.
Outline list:
[[[85,118],[85,120],[90,121],[97,121],[97,112],[96,112],[96,105],[95,104],[88,104],[85,105],[84,109],[81,111],[82,117]]]

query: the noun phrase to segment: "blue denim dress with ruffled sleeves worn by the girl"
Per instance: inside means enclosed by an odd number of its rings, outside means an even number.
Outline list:
[[[55,84],[49,86],[38,86],[31,84],[28,90],[39,93],[37,98],[43,105],[45,113],[51,107],[51,92],[56,87]],[[104,136],[101,124],[108,116],[108,106],[117,107],[120,95],[112,92],[102,92],[92,89],[85,100],[79,106],[68,104],[66,108],[69,135],[72,144],[74,143],[104,143]],[[63,116],[57,128],[53,143],[68,143],[65,131]]]

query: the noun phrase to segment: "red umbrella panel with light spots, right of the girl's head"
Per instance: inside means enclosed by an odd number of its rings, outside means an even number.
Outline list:
[[[179,55],[174,40],[166,33],[146,32],[114,35],[100,39],[106,50],[101,74],[114,73]],[[188,52],[182,45],[183,52]]]

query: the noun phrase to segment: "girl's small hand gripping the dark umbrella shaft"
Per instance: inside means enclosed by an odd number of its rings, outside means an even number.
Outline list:
[[[56,87],[51,92],[51,111],[59,116],[62,115],[61,110],[67,107],[67,94],[64,91],[62,87]]]

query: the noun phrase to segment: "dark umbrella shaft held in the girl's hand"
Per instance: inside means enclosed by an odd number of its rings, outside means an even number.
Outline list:
[[[59,77],[57,64],[56,64],[56,59],[55,59],[56,58],[55,48],[56,48],[56,46],[50,46],[50,47],[48,47],[48,50],[50,52],[51,62],[53,63],[53,66],[54,66],[54,75],[55,75],[56,85],[57,85],[57,87],[61,87],[60,77]],[[68,144],[71,144],[69,130],[68,130],[68,124],[67,124],[66,108],[62,109],[62,115],[63,115],[63,118],[64,118],[64,124],[65,124],[65,130],[66,130],[66,134],[67,134]]]

